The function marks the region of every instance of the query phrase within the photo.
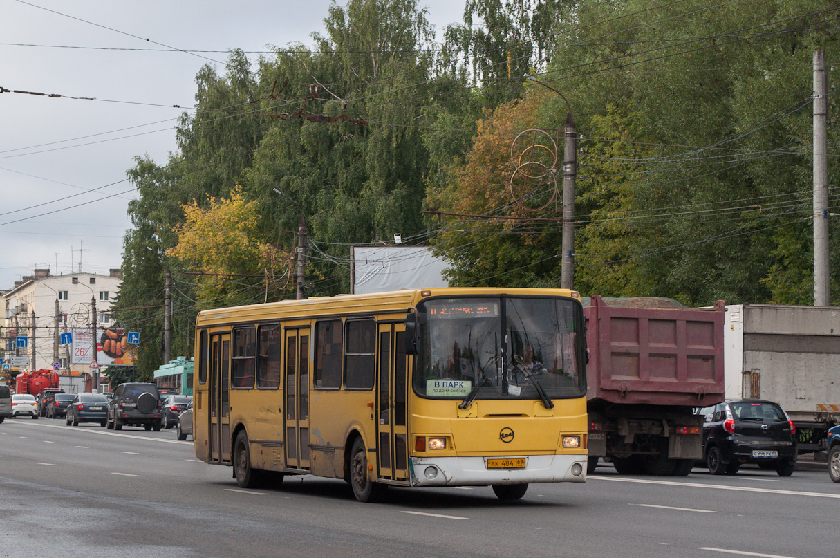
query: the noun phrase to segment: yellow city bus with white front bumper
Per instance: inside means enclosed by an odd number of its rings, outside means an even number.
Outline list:
[[[198,314],[197,458],[240,487],[585,482],[585,322],[570,290],[433,288]]]

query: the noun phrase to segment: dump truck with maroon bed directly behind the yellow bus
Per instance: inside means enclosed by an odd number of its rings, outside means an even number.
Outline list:
[[[584,299],[589,471],[685,476],[703,459],[703,417],[724,400],[724,305]]]

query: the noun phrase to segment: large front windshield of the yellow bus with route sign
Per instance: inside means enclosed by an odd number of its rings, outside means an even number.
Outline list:
[[[438,298],[421,303],[417,395],[475,399],[582,397],[580,304],[559,297]],[[477,392],[473,393],[477,388]]]

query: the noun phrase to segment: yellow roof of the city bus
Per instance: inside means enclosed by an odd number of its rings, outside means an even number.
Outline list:
[[[370,294],[339,294],[334,297],[309,297],[303,300],[282,300],[277,303],[249,304],[230,308],[214,308],[198,313],[197,327],[229,324],[239,320],[294,319],[335,314],[405,313],[423,298],[459,295],[500,295],[574,297],[580,294],[569,289],[533,289],[505,287],[440,287],[402,289]]]

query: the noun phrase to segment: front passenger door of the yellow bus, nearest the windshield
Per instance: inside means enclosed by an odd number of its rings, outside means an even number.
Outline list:
[[[405,324],[378,330],[379,476],[395,481],[408,479],[405,330]]]

